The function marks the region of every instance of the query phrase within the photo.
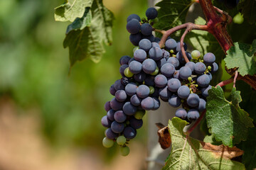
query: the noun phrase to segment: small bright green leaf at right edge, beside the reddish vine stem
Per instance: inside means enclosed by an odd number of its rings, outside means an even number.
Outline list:
[[[238,72],[245,76],[246,74],[256,74],[256,62],[254,53],[256,52],[256,40],[252,45],[235,42],[233,47],[227,51],[224,61],[228,69],[238,68]]]

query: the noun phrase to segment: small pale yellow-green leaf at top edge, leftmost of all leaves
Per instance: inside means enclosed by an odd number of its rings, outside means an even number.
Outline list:
[[[92,6],[93,0],[65,0],[65,3],[55,8],[55,21],[71,21],[81,18],[85,7]]]

